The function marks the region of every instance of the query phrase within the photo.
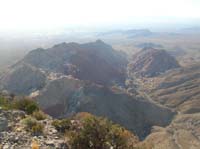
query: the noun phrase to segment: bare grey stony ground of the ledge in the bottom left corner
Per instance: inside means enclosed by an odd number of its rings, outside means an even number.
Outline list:
[[[40,121],[44,124],[44,134],[34,136],[26,131],[23,119],[26,113],[19,110],[0,111],[0,148],[2,149],[32,149],[34,144],[41,149],[67,149],[65,138],[60,136],[52,126],[51,117]],[[2,124],[2,119],[6,123]],[[35,145],[36,146],[36,145]]]

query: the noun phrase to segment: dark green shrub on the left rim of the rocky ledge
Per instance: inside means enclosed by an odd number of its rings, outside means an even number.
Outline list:
[[[34,111],[39,110],[38,104],[35,101],[27,98],[14,101],[13,107],[15,109],[25,111],[27,114],[32,114]]]

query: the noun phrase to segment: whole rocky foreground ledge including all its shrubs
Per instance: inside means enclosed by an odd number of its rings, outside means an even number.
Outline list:
[[[41,111],[35,112],[41,113]],[[7,123],[4,128],[0,123],[0,148],[132,149],[140,146],[143,148],[137,136],[102,117],[79,113],[69,119],[58,120],[44,113],[42,115],[41,119],[34,113],[27,115],[20,110],[1,110],[0,119],[6,119]]]

